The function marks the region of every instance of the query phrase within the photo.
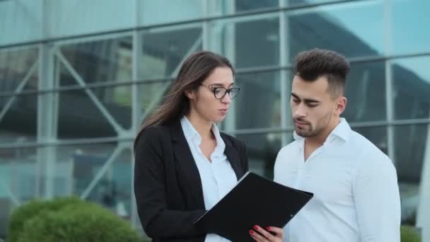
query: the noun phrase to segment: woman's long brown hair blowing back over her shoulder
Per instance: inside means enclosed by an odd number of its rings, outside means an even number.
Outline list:
[[[185,96],[185,91],[197,89],[216,67],[228,67],[234,74],[231,63],[226,57],[219,54],[199,51],[187,57],[163,103],[149,115],[136,135],[134,148],[136,148],[137,139],[147,127],[169,124],[180,119],[182,115],[187,115],[190,112],[190,100]]]

